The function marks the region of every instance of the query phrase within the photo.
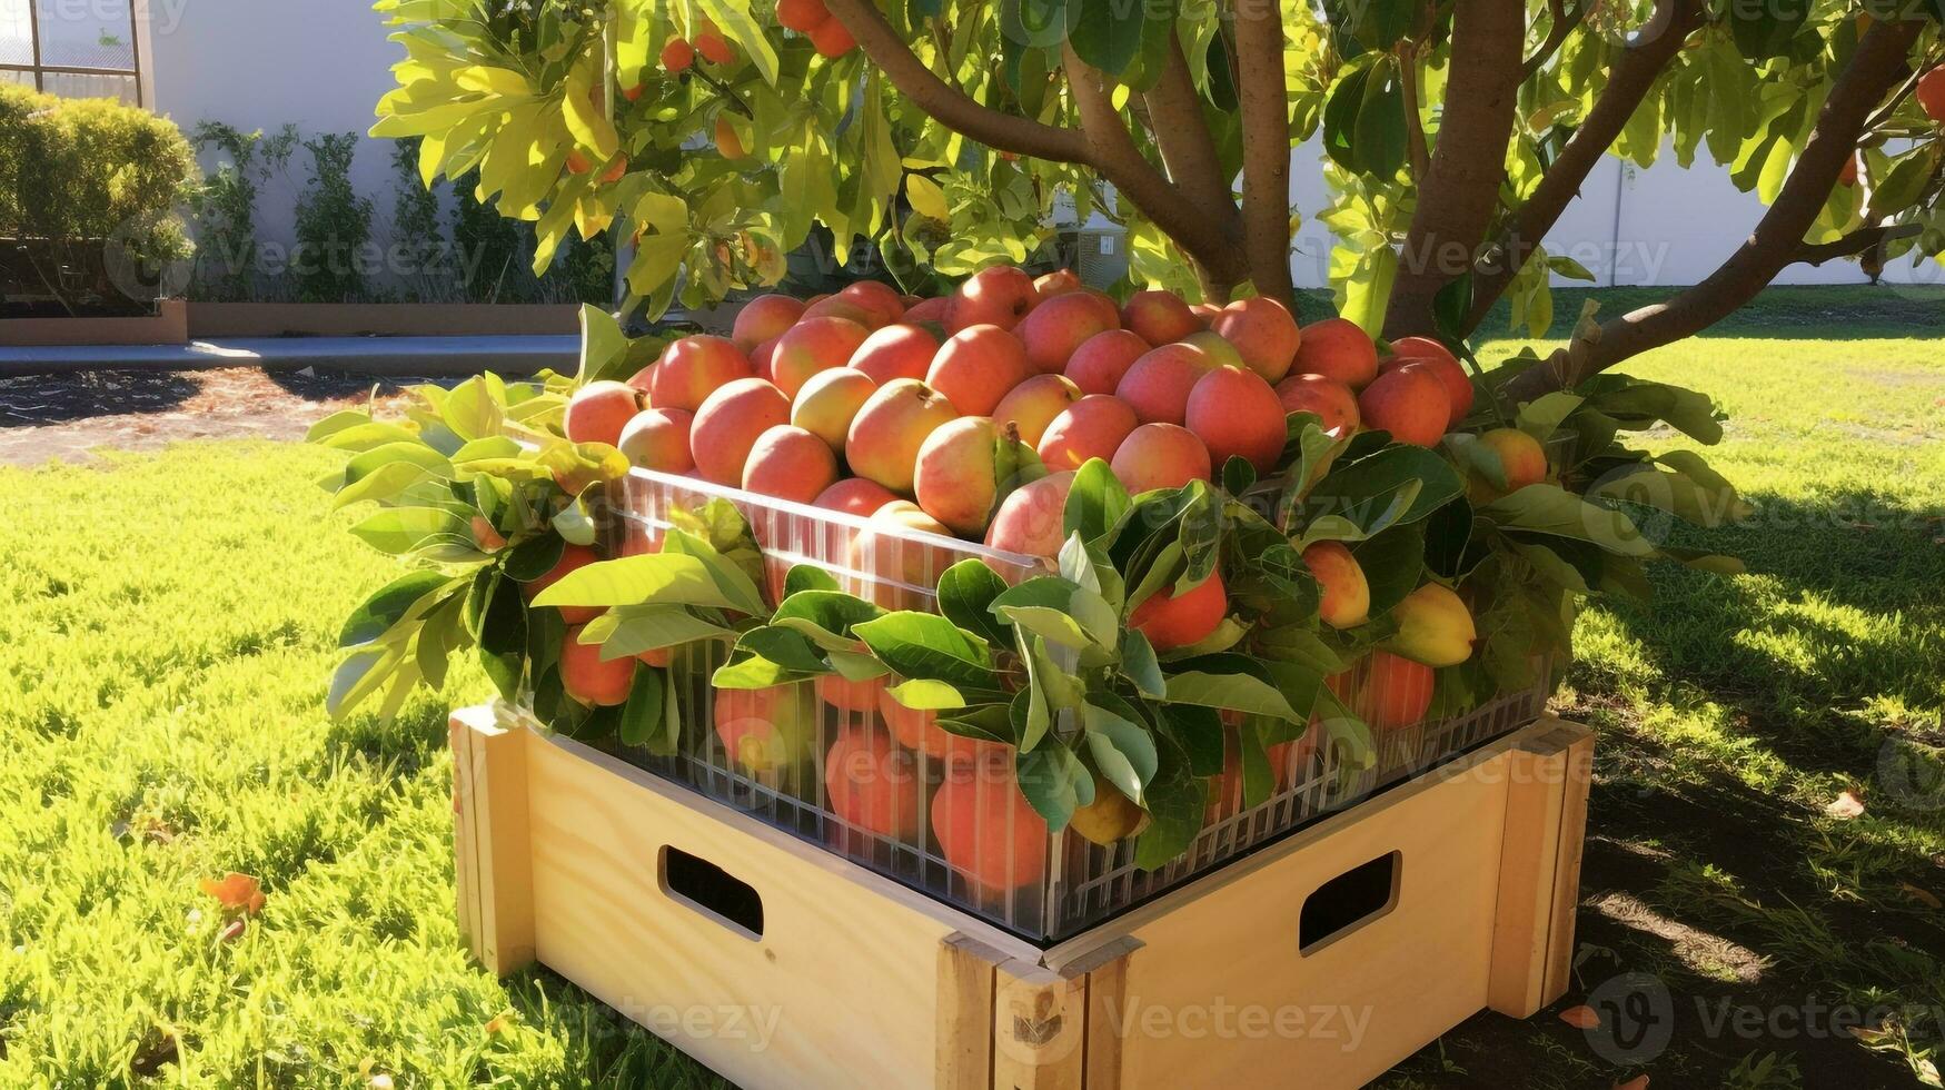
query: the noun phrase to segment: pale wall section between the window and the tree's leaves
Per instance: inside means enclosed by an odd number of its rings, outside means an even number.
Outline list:
[[[245,132],[296,123],[303,136],[360,132],[393,88],[403,51],[370,0],[148,0],[150,105],[183,130],[224,121]],[[214,162],[206,156],[204,169]],[[296,189],[309,154],[290,162],[290,185],[261,193],[257,234],[288,243]],[[391,140],[362,140],[352,183],[377,206],[383,239],[393,200]]]

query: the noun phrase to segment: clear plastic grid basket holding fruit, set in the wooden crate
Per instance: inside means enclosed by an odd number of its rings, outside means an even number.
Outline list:
[[[1035,557],[887,531],[864,518],[640,469],[615,487],[613,541],[620,553],[654,549],[675,518],[718,498],[749,520],[772,600],[796,564],[815,564],[887,609],[932,609],[939,572],[969,557],[1009,582],[1050,570]],[[1103,847],[1072,827],[1050,833],[1013,782],[1009,749],[951,736],[873,685],[832,679],[718,691],[710,675],[725,658],[720,642],[675,650],[669,681],[683,716],[675,755],[613,740],[601,747],[1041,944],[1509,734],[1533,722],[1546,699],[1535,687],[1459,718],[1375,730],[1377,763],[1356,773],[1338,767],[1336,749],[1311,724],[1297,742],[1272,749],[1268,802],[1245,808],[1237,773],[1212,781],[1206,825],[1190,849],[1142,870],[1134,839]],[[1358,685],[1367,670],[1363,662],[1336,681]]]

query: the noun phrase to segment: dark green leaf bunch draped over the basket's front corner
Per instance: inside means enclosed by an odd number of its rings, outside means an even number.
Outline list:
[[[1328,691],[1311,664],[1241,648],[1258,621],[1253,603],[1206,640],[1167,652],[1130,617],[1212,578],[1270,592],[1307,576],[1288,541],[1220,489],[1194,481],[1130,496],[1099,459],[1076,473],[1064,529],[1050,574],[1008,586],[980,559],[953,564],[937,582],[937,613],[887,611],[797,566],[776,613],[741,633],[714,683],[889,677],[895,701],[934,712],[943,730],[1011,747],[1019,788],[1052,829],[1101,790],[1134,800],[1149,814],[1136,858],[1159,866],[1202,827],[1206,779],[1223,773],[1223,716],[1241,724],[1249,794],[1260,802],[1272,782],[1266,747],[1299,738]],[[1258,553],[1266,537],[1282,551]],[[1315,623],[1315,586],[1307,601]],[[1344,734],[1369,753],[1362,724]]]

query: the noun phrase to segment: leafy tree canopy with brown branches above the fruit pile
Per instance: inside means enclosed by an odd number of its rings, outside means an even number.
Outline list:
[[[1721,319],[1793,263],[1945,251],[1945,0],[381,0],[377,136],[533,220],[628,224],[661,313],[778,282],[823,226],[908,288],[1019,263],[1056,206],[1126,226],[1136,282],[1291,296],[1338,243],[1371,333],[1552,321],[1540,245],[1603,158],[1727,167],[1766,212],[1667,304],[1581,323],[1533,391]],[[788,29],[790,25],[809,29]],[[1924,90],[1920,90],[1924,86]],[[1935,113],[1927,113],[1931,107]],[[1330,200],[1293,208],[1321,136]]]

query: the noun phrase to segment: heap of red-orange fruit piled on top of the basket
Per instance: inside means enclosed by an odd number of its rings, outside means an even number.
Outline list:
[[[996,267],[932,300],[879,282],[760,296],[731,337],[683,337],[628,382],[580,389],[566,430],[644,469],[1050,557],[1091,457],[1130,492],[1171,489],[1229,457],[1270,473],[1290,413],[1432,446],[1470,405],[1435,341],[1381,364],[1354,323],[1297,329],[1272,300],[1114,306],[1068,271]],[[1008,438],[1048,475],[1011,490]]]

